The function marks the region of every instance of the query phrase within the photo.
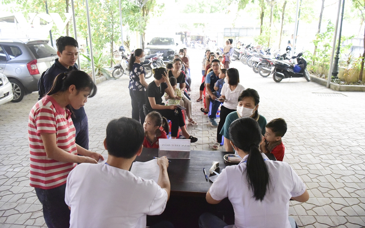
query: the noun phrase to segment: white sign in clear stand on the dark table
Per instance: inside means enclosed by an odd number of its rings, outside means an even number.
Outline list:
[[[159,139],[158,156],[190,159],[190,139]]]

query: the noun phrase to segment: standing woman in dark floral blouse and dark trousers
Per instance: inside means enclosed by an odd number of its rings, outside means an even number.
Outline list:
[[[136,49],[129,60],[129,95],[132,101],[132,118],[145,122],[145,113],[143,113],[143,105],[146,102],[145,94],[148,86],[145,81],[145,67],[141,65],[146,59],[142,49]]]

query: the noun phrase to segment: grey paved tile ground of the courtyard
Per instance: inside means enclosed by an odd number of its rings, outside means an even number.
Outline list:
[[[195,101],[203,51],[189,50],[189,55]],[[288,123],[284,161],[300,175],[311,197],[306,203],[290,202],[289,214],[298,225],[365,227],[365,93],[339,94],[304,78],[276,83],[241,62],[233,62],[231,67],[239,69],[243,86],[258,91],[259,111],[268,121],[283,117]],[[91,150],[106,154],[102,141],[107,123],[131,116],[127,85],[127,76],[105,81],[86,104]],[[46,227],[42,206],[28,181],[27,119],[36,101],[37,93],[32,93],[20,103],[0,107],[0,227]],[[200,112],[202,105],[193,102],[193,117],[199,126],[189,125],[188,131],[199,138],[193,149],[212,150],[216,128]]]

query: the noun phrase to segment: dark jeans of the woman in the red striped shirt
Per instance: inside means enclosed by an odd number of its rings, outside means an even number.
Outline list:
[[[43,217],[49,228],[69,228],[70,209],[65,203],[66,184],[53,189],[34,188],[43,206]]]

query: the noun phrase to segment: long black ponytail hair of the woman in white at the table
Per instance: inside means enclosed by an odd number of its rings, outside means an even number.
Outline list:
[[[231,124],[229,136],[235,147],[248,152],[246,175],[253,197],[262,201],[269,189],[269,171],[260,152],[260,125],[253,118],[239,118]]]

